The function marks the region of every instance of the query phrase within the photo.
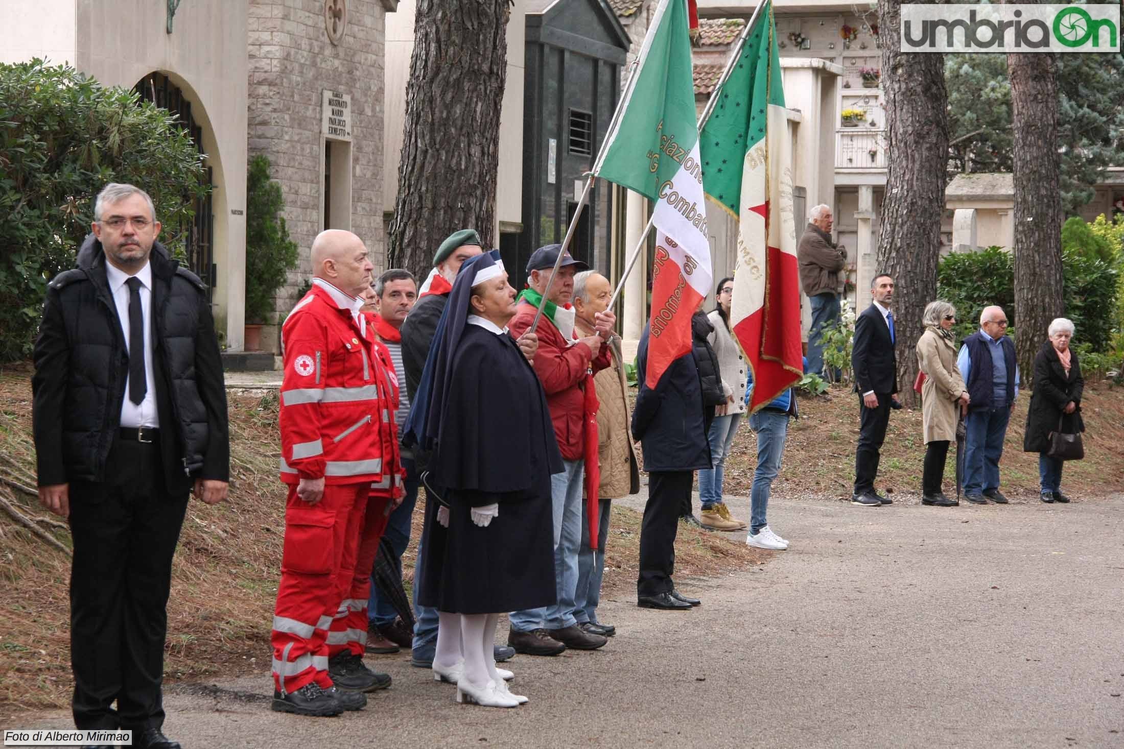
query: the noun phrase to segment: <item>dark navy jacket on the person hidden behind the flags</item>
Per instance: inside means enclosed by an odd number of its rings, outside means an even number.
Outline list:
[[[683,354],[660,377],[655,390],[645,383],[649,328],[636,350],[636,377],[640,392],[633,409],[633,439],[644,449],[644,471],[698,471],[710,467],[710,442],[699,389],[695,357]]]

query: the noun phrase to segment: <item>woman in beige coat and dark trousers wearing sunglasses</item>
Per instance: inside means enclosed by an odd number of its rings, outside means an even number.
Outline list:
[[[922,478],[922,504],[950,508],[960,504],[941,491],[949,442],[957,438],[961,405],[968,405],[968,389],[957,367],[957,346],[952,326],[957,310],[940,300],[925,308],[925,332],[917,341],[917,364],[925,373],[921,389],[922,422],[925,436],[925,468]]]

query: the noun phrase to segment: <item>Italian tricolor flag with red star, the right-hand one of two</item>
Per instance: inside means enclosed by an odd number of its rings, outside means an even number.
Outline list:
[[[804,372],[792,144],[772,3],[758,15],[701,134],[706,194],[738,219],[729,322],[753,369],[755,412]]]

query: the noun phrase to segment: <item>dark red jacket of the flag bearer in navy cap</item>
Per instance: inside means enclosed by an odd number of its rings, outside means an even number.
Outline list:
[[[519,302],[515,317],[507,323],[513,338],[522,336],[535,319],[537,308]],[[546,405],[554,422],[554,438],[563,460],[581,460],[583,455],[584,395],[581,384],[586,374],[597,374],[611,363],[608,346],[602,345],[597,356],[586,344],[568,345],[562,334],[545,314],[538,321],[538,350],[535,353],[535,374],[546,391]]]

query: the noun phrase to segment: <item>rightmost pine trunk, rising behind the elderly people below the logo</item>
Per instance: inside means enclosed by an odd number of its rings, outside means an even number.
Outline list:
[[[1023,382],[1032,385],[1034,355],[1050,322],[1063,312],[1058,61],[1046,53],[1008,54],[1007,70],[1015,157],[1015,354]]]

